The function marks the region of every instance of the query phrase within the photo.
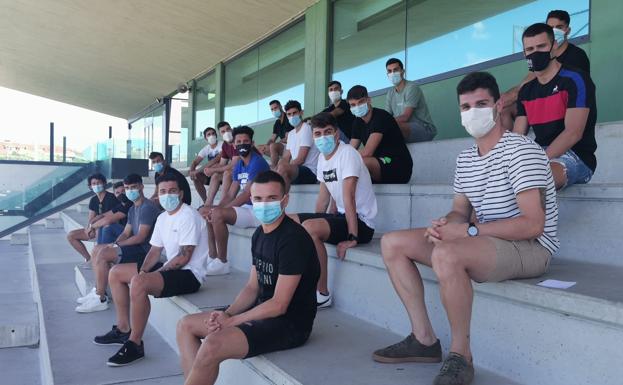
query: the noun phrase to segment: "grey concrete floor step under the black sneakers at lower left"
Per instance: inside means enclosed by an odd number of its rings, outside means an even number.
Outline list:
[[[144,337],[144,360],[121,368],[106,365],[108,357],[119,347],[97,346],[92,339],[110,330],[115,323],[114,310],[90,314],[74,311],[75,299],[80,295],[75,286],[74,266],[81,258],[71,249],[65,236],[62,228],[30,227],[46,335],[42,347],[45,343],[49,354],[51,378],[46,384],[182,383],[177,355],[149,326]]]

